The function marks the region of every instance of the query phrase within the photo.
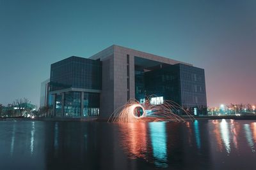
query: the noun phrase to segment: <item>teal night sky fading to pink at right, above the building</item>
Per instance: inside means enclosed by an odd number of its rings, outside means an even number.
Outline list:
[[[0,103],[39,105],[53,62],[113,44],[204,68],[208,106],[256,103],[254,0],[0,0]]]

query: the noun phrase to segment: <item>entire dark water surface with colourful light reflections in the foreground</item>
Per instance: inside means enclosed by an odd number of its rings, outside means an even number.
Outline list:
[[[0,121],[0,169],[255,169],[255,143],[249,120]]]

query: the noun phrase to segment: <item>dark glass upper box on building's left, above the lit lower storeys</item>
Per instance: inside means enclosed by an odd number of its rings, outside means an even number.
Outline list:
[[[67,88],[101,89],[100,60],[68,57],[51,64],[51,91]]]

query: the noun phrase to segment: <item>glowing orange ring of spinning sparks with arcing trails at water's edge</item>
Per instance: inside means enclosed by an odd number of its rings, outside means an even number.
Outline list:
[[[150,99],[150,97],[148,98]],[[165,100],[158,104],[152,104],[149,99],[145,100],[145,103],[139,103],[135,99],[131,99],[124,106],[116,109],[109,117],[108,122],[163,122],[166,120],[170,122],[186,122],[184,118],[174,113],[180,110],[184,111],[191,120],[195,120],[188,111],[182,109],[179,104],[173,101]],[[148,116],[147,113],[149,112],[154,117]]]

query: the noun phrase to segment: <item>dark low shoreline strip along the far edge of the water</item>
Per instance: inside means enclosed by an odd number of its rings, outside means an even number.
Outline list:
[[[192,119],[188,116],[181,116],[186,121],[191,121]],[[234,119],[234,120],[256,120],[256,115],[223,115],[223,116],[200,116],[194,117],[195,120],[217,120],[217,119]],[[148,117],[149,121],[156,120],[156,117]],[[53,121],[53,122],[108,122],[109,118],[99,118],[99,117],[88,117],[88,118],[47,118],[47,117],[36,117],[36,118],[0,118],[0,121]],[[151,120],[151,121],[150,121]],[[173,122],[169,118],[161,118],[161,120],[166,122]]]

